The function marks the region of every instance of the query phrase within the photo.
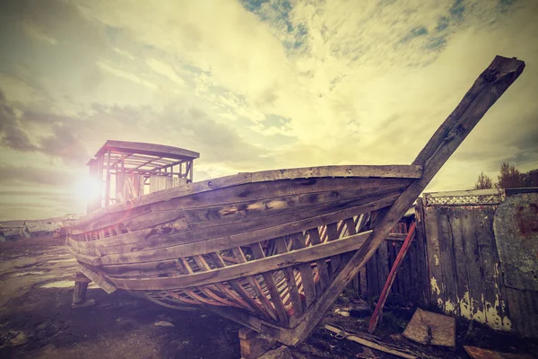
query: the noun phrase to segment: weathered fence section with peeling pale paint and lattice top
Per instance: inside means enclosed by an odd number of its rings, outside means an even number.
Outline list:
[[[424,214],[430,302],[449,315],[538,337],[538,194],[506,195],[424,195],[418,211]]]

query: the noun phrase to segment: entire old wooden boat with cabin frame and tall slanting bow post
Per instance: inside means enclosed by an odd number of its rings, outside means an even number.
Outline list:
[[[296,345],[524,67],[495,57],[411,165],[193,182],[198,153],[108,141],[89,162],[103,197],[65,223],[69,248],[108,293],[202,306]]]

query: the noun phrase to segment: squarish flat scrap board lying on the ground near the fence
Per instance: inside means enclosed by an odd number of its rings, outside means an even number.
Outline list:
[[[404,330],[404,337],[423,345],[456,347],[456,319],[418,308]]]

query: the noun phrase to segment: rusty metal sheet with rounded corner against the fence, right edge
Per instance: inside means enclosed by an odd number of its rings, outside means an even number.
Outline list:
[[[505,285],[538,291],[538,193],[508,197],[493,227]]]

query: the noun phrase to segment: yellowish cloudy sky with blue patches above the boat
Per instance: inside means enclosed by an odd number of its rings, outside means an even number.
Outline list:
[[[82,213],[107,139],[238,171],[412,162],[495,55],[524,74],[428,190],[538,168],[535,0],[2,0],[0,219]]]

